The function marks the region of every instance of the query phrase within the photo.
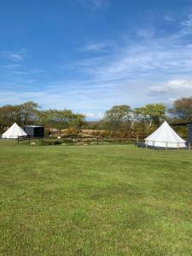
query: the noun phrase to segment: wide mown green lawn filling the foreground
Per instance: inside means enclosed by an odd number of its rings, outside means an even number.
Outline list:
[[[192,151],[0,143],[0,255],[192,255]]]

